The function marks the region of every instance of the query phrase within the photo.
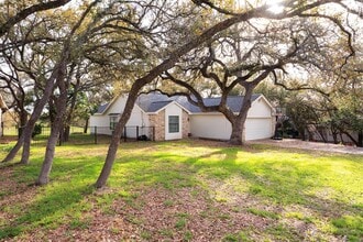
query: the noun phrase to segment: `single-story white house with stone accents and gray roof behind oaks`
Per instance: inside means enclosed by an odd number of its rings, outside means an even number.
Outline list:
[[[228,97],[227,105],[239,112],[242,96]],[[90,127],[97,133],[111,134],[124,109],[127,96],[119,96],[99,107],[90,117]],[[206,106],[220,102],[220,98],[204,99]],[[253,95],[252,106],[245,122],[245,140],[273,136],[275,129],[274,108],[263,95]],[[167,97],[160,92],[140,95],[127,123],[125,134],[130,138],[146,135],[156,141],[177,140],[187,136],[229,140],[231,123],[220,112],[202,112],[186,97]]]

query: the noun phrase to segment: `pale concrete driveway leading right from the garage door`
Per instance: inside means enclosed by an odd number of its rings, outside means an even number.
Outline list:
[[[284,139],[284,140],[268,139],[268,140],[250,141],[248,143],[250,143],[250,144],[271,144],[271,145],[280,146],[280,147],[295,147],[295,148],[304,148],[304,150],[363,155],[363,147],[345,146],[345,145],[341,145],[341,144],[327,144],[327,143],[320,143],[320,142],[300,141],[300,140],[295,140],[295,139]]]

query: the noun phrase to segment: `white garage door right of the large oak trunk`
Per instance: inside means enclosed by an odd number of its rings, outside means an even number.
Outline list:
[[[271,118],[248,118],[245,122],[245,140],[251,141],[271,138],[273,135],[272,130]]]

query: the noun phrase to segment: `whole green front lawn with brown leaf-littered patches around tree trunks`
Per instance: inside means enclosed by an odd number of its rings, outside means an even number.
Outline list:
[[[0,144],[0,158],[9,151]],[[57,147],[52,182],[0,165],[0,240],[362,241],[363,157],[202,141]]]

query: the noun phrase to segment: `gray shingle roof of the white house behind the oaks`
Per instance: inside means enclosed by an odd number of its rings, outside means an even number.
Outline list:
[[[253,95],[252,101],[256,100],[261,95]],[[186,110],[191,113],[199,113],[202,112],[199,107],[191,105],[186,97],[176,96],[176,97],[167,97],[166,95],[162,95],[160,92],[151,92],[147,95],[140,95],[138,97],[136,103],[139,107],[144,110],[145,112],[157,112],[158,110],[163,109],[170,102],[177,102]],[[207,107],[210,106],[218,106],[221,101],[221,98],[205,98],[204,102]],[[233,111],[239,112],[242,106],[243,96],[229,96],[227,98],[227,106]],[[97,113],[102,113],[107,105],[102,105],[98,108]]]

